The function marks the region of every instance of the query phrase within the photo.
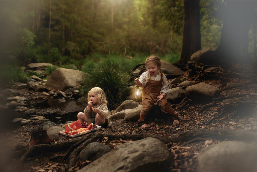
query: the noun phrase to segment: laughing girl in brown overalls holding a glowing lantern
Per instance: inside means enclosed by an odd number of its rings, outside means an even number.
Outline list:
[[[159,106],[164,113],[170,114],[171,119],[174,120],[173,124],[179,124],[178,117],[165,98],[169,91],[169,85],[166,76],[161,72],[160,58],[157,56],[150,56],[146,59],[145,65],[147,72],[142,73],[139,79],[135,79],[135,83],[139,87],[143,87],[143,109],[140,113],[138,125],[141,128],[149,127],[149,125],[146,124],[146,118],[154,105]]]

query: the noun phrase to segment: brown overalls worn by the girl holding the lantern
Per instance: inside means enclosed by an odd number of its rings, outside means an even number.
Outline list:
[[[161,87],[162,81],[149,80],[146,82],[142,91],[143,109],[141,110],[138,120],[139,126],[146,123],[145,119],[148,117],[148,113],[154,105],[159,106],[161,111],[164,113],[170,114],[171,119],[178,119],[167,99],[165,97],[163,97],[161,100],[157,98],[157,96],[160,95]]]

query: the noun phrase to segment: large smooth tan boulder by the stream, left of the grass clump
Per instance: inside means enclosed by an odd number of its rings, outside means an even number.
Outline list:
[[[76,87],[83,83],[85,74],[78,70],[58,68],[52,72],[46,82],[47,87],[61,91]]]

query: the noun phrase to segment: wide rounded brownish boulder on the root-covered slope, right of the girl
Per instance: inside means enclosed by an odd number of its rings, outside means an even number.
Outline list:
[[[210,101],[220,93],[219,88],[206,83],[191,85],[186,89],[186,97],[196,102]]]

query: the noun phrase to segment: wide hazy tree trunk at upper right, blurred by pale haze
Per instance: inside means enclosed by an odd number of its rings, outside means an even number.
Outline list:
[[[216,50],[216,58],[227,59],[234,63],[249,60],[248,32],[253,20],[251,1],[226,1],[221,40]]]

